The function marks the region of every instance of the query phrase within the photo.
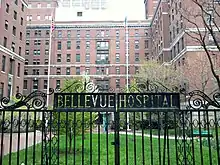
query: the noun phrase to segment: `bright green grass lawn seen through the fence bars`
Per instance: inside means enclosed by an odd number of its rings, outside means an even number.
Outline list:
[[[142,150],[144,150],[144,162],[145,165],[150,165],[151,164],[151,158],[153,158],[153,164],[159,165],[159,161],[163,161],[163,139],[160,139],[160,151],[159,151],[159,144],[158,144],[158,139],[153,138],[152,143],[151,139],[148,137],[144,137],[144,148],[142,148],[142,137],[141,136],[136,136],[136,164],[141,165],[143,164],[142,160]],[[100,156],[98,153],[98,135],[97,134],[92,134],[92,148],[90,148],[90,136],[86,135],[85,140],[84,140],[84,164],[89,165],[90,164],[90,153],[92,154],[92,163],[94,165],[98,165],[98,161],[100,158],[100,164],[101,165],[106,165],[107,164],[107,158],[108,158],[108,163],[109,165],[114,164],[114,146],[111,145],[111,142],[114,141],[114,134],[110,134],[108,136],[108,141],[106,140],[106,135],[101,134],[100,135]],[[56,141],[54,141],[56,142]],[[152,145],[151,145],[152,144]],[[195,164],[200,165],[201,164],[201,154],[199,150],[199,142],[194,143],[195,146]],[[151,152],[151,147],[152,151]],[[41,148],[42,144],[38,144],[35,146],[35,151],[33,146],[28,148],[28,155],[27,155],[27,165],[32,165],[35,162],[36,165],[41,164]],[[107,155],[107,148],[108,148],[108,155]],[[76,138],[76,149],[77,152],[75,154],[75,164],[76,165],[81,165],[82,164],[82,138],[81,136],[78,136]],[[204,165],[210,164],[209,160],[209,152],[208,152],[208,147],[203,146],[203,163]],[[74,163],[74,153],[68,153],[65,154],[66,152],[66,137],[62,136],[60,137],[60,154],[52,157],[51,164],[56,164],[56,165],[73,165]],[[125,135],[120,135],[120,162],[121,165],[126,164],[126,136]],[[135,155],[134,155],[134,136],[133,135],[128,135],[128,165],[133,165],[135,164]],[[35,153],[35,158],[33,160],[33,155]],[[175,148],[175,141],[174,140],[169,140],[169,151],[166,150],[166,156],[169,153],[170,156],[170,164],[175,165],[177,164],[176,162],[176,148]],[[17,153],[13,153],[11,155],[11,160],[12,160],[12,165],[17,165]],[[57,156],[59,156],[59,163],[57,162]],[[212,150],[212,163],[213,164],[218,164],[217,163],[217,154],[216,150]],[[9,155],[4,156],[3,158],[3,165],[8,165],[9,161]],[[168,164],[168,159],[166,158],[165,160]],[[25,162],[25,150],[22,150],[19,152],[19,165]]]

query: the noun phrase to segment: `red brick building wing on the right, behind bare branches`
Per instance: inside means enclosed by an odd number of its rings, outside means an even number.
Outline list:
[[[152,4],[152,1],[145,1],[146,11],[149,11]],[[161,64],[168,63],[178,68],[182,76],[180,85],[188,91],[204,90],[205,83],[205,92],[209,93],[216,89],[216,82],[211,75],[205,51],[198,42],[187,35],[194,35],[196,27],[183,18],[183,11],[192,12],[192,16],[188,19],[196,23],[200,30],[204,29],[203,20],[199,17],[195,20],[193,18],[193,13],[198,14],[200,11],[191,0],[185,0],[184,3],[181,0],[158,1],[153,17],[151,17],[152,56]],[[151,12],[148,15],[150,17]],[[217,18],[215,17],[215,20]],[[209,20],[210,18],[207,15],[204,19]],[[220,21],[217,22],[219,25]],[[212,60],[215,70],[218,70],[219,58],[217,55],[219,51],[215,46],[213,47],[213,39],[210,35],[205,38],[207,48],[215,54]]]

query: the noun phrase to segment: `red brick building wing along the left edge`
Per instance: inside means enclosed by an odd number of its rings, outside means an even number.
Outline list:
[[[23,92],[27,1],[0,1],[0,98]]]

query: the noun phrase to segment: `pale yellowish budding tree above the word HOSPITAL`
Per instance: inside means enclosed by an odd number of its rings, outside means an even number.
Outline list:
[[[164,88],[168,91],[179,89],[180,74],[172,65],[161,65],[157,61],[147,61],[140,68],[136,76],[139,84],[157,85],[158,88]],[[141,86],[138,87],[139,89]],[[159,89],[160,90],[160,89]]]

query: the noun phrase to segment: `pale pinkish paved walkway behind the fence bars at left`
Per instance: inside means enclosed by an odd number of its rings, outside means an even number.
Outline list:
[[[35,144],[38,144],[42,141],[42,133],[40,131],[36,131],[36,140]],[[1,153],[1,138],[2,134],[0,133],[0,153]],[[3,137],[3,155],[7,155],[10,152],[10,144],[11,144],[11,152],[18,151],[18,133],[12,134],[12,141],[10,143],[10,134],[4,133]],[[28,133],[28,147],[34,145],[34,132]],[[26,148],[26,133],[20,133],[20,147],[19,150],[23,150]]]

